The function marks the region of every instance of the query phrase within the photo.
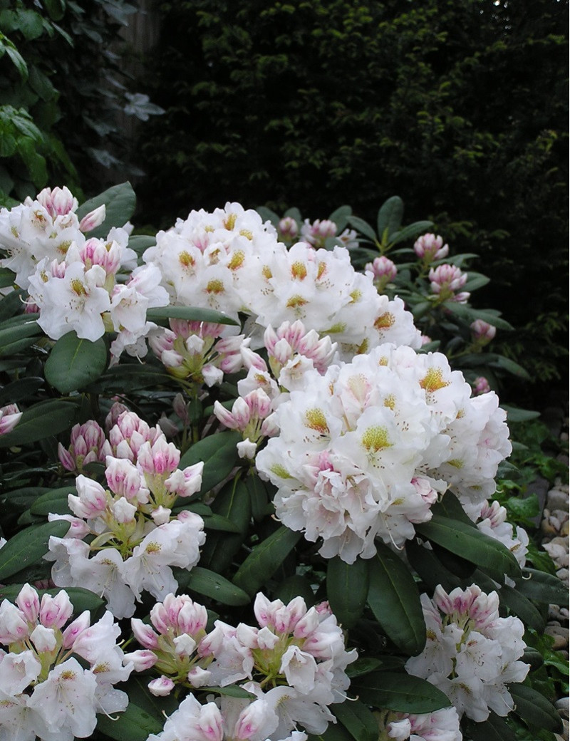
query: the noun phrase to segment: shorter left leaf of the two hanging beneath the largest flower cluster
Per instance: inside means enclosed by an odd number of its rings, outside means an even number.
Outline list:
[[[368,595],[369,559],[357,558],[348,564],[339,556],[327,565],[327,599],[343,628],[352,628],[362,615]]]

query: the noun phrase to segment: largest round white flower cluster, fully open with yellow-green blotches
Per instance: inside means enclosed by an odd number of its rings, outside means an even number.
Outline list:
[[[309,371],[277,406],[279,436],[256,467],[279,489],[276,516],[351,563],[374,556],[377,536],[414,537],[448,488],[465,502],[492,494],[511,450],[505,416],[494,393],[471,398],[440,353],[381,345]]]

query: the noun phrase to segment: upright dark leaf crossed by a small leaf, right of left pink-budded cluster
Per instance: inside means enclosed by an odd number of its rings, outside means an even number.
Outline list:
[[[251,506],[245,484],[241,480],[228,482],[222,491],[216,494],[212,509],[239,528],[239,534],[236,535],[211,533],[206,538],[200,563],[217,574],[222,574],[239,551],[248,531]]]

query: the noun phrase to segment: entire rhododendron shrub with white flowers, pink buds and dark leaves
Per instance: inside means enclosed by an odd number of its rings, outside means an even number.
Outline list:
[[[0,211],[0,741],[554,732],[481,279],[394,202],[134,205]]]

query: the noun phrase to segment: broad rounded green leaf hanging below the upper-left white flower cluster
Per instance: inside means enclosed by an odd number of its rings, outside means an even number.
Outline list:
[[[84,388],[95,381],[107,368],[105,340],[96,342],[68,332],[53,345],[45,363],[45,378],[60,393]]]

